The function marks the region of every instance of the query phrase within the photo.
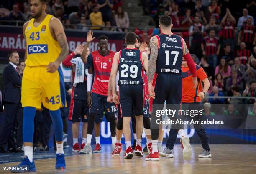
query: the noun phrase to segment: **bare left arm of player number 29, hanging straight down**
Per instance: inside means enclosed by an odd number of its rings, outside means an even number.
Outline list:
[[[113,102],[115,102],[116,104],[118,104],[118,96],[116,94],[116,82],[115,82],[115,78],[116,78],[116,74],[118,72],[118,58],[119,58],[119,54],[120,52],[115,53],[114,55],[114,59],[113,59],[113,63],[112,63],[112,67],[111,67],[111,73],[110,73],[110,85],[111,85],[111,92],[113,94]]]

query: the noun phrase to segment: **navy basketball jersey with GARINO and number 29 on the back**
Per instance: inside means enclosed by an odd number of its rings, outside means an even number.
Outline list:
[[[144,67],[141,59],[142,52],[137,49],[125,48],[120,50],[118,60],[118,85],[136,85],[144,83]]]

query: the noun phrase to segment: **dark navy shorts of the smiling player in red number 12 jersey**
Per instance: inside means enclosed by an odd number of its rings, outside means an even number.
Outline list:
[[[117,109],[114,103],[107,102],[107,96],[92,92],[92,108],[90,109],[90,112],[96,114],[105,112],[106,115],[109,115],[117,113]]]

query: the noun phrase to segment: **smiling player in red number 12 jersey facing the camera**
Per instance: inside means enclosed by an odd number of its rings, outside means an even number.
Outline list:
[[[92,33],[90,35],[92,36]],[[114,103],[107,102],[108,81],[115,52],[108,50],[108,37],[100,36],[98,40],[99,50],[91,52],[87,58],[87,101],[90,107],[90,114],[88,118],[87,144],[84,150],[85,154],[92,154],[92,131],[97,113],[102,112],[102,102],[106,119],[110,122],[112,144],[113,146],[115,144],[115,113],[117,112],[117,109]],[[93,71],[94,79],[92,80]],[[100,144],[96,144],[95,150],[98,152],[101,150]]]

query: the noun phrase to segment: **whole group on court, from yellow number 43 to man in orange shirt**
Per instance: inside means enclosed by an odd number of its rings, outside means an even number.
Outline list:
[[[166,149],[161,149],[162,127],[157,124],[156,110],[163,109],[164,103],[182,107],[182,103],[200,103],[210,83],[202,67],[192,60],[182,37],[171,32],[172,19],[160,17],[162,34],[151,37],[150,45],[138,44],[134,32],[125,36],[126,48],[119,52],[108,50],[108,38],[98,37],[99,50],[89,54],[89,43],[95,39],[93,32],[87,33],[86,45],[79,45],[68,55],[67,38],[61,22],[47,15],[46,0],[31,0],[32,19],[23,25],[26,40],[25,70],[22,81],[23,118],[23,161],[18,165],[28,170],[15,169],[12,172],[35,172],[33,160],[33,118],[41,104],[49,109],[56,139],[55,169],[66,169],[63,150],[63,125],[60,107],[65,107],[64,76],[61,63],[73,67],[72,101],[69,120],[72,123],[73,151],[80,154],[101,152],[99,138],[92,150],[92,132],[95,128],[99,137],[101,115],[104,112],[112,137],[112,155],[120,156],[121,137],[124,134],[126,151],[124,157],[131,159],[131,118],[136,121],[135,155],[142,157],[141,137],[143,128],[147,139],[147,161],[159,161],[159,154],[174,157],[172,148],[181,137],[183,157],[192,156],[189,138],[183,124],[172,125]],[[41,28],[44,28],[42,31]],[[150,59],[148,60],[150,50]],[[75,55],[81,57],[75,57]],[[198,79],[197,79],[198,78]],[[202,87],[202,82],[204,86]],[[182,85],[183,84],[183,85]],[[185,89],[185,91],[184,91]],[[144,114],[144,110],[146,109]],[[151,118],[150,118],[150,113]],[[117,114],[117,116],[115,116]],[[117,118],[116,118],[117,117]],[[79,146],[78,127],[82,129],[82,145]],[[95,126],[96,125],[96,126]],[[195,129],[203,151],[199,157],[211,157],[205,129]]]

